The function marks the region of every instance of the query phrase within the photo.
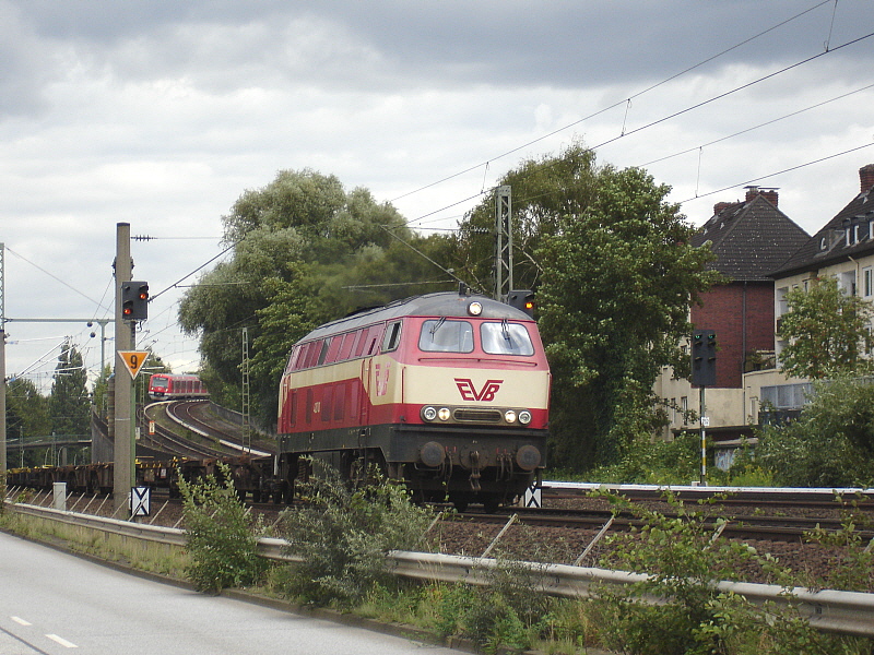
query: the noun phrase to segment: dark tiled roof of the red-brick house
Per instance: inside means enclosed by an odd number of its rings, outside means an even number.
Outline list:
[[[692,243],[701,246],[711,241],[718,259],[710,263],[710,269],[732,279],[769,279],[773,271],[810,241],[807,233],[760,194],[718,207],[692,238]]]

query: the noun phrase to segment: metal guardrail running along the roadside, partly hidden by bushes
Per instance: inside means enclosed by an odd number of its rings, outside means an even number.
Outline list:
[[[185,531],[173,527],[144,525],[117,519],[105,519],[48,508],[8,502],[10,509],[22,514],[59,521],[78,527],[123,535],[161,544],[185,546]],[[276,561],[302,561],[284,552],[284,539],[262,537],[258,540],[259,553]],[[505,565],[494,559],[459,557],[429,552],[395,550],[388,555],[390,568],[397,575],[420,580],[491,584],[491,572]],[[531,574],[534,586],[545,594],[567,598],[584,598],[594,594],[598,585],[628,585],[647,580],[641,573],[611,571],[568,564],[513,562],[515,567]],[[733,593],[756,604],[772,603],[778,607],[795,606],[802,616],[824,631],[858,636],[874,636],[874,594],[804,587],[788,590],[779,585],[743,582],[718,582],[720,592]],[[657,598],[652,598],[657,602]]]

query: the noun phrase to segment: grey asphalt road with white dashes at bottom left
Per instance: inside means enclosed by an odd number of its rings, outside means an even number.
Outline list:
[[[0,655],[457,655],[101,567],[0,533]]]

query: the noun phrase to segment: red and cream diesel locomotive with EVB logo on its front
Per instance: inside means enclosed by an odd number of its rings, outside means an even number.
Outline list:
[[[511,503],[545,464],[550,383],[533,319],[464,288],[327,323],[282,377],[281,492],[316,456],[351,480],[376,464],[462,511]]]

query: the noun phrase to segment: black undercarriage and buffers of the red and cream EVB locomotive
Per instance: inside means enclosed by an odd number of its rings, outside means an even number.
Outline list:
[[[540,430],[418,425],[287,436],[280,442],[283,497],[290,500],[295,484],[309,475],[302,457],[311,455],[352,484],[362,481],[375,464],[387,477],[404,480],[417,501],[448,501],[460,511],[483,503],[492,511],[515,502],[539,481],[545,444]]]

